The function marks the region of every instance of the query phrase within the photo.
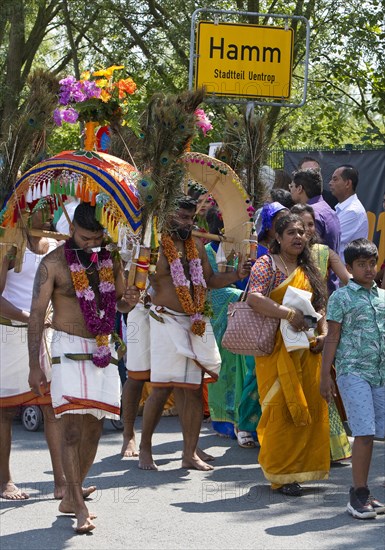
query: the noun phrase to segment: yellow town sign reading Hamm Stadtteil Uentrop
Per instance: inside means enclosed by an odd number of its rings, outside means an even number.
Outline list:
[[[209,95],[290,97],[291,28],[201,21],[195,87]]]

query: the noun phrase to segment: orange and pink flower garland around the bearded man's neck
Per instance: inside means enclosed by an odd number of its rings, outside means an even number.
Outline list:
[[[185,241],[186,257],[189,262],[189,272],[193,285],[194,299],[190,294],[190,282],[187,280],[180,261],[178,250],[170,235],[163,234],[161,238],[163,253],[170,264],[172,282],[183,311],[191,315],[191,331],[203,336],[206,322],[203,320],[203,310],[206,302],[206,281],[203,277],[202,262],[192,237]]]

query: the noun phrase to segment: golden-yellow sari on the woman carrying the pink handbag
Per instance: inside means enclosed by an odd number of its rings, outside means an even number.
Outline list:
[[[288,286],[311,291],[297,268],[270,298],[282,304]],[[328,407],[319,391],[321,354],[289,353],[277,331],[273,353],[256,357],[262,416],[259,464],[272,489],[286,483],[327,479],[330,469]]]

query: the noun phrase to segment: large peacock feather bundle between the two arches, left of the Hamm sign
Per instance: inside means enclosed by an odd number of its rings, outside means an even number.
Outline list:
[[[180,159],[196,133],[195,111],[203,98],[203,89],[178,95],[156,94],[141,117],[141,129],[135,143],[132,134],[124,134],[116,128],[113,131],[112,154],[120,147],[122,158],[128,162],[135,159],[141,172],[138,190],[143,205],[143,235],[148,233],[153,216],[157,217],[161,232],[168,215],[175,209],[185,175]],[[127,137],[123,147],[121,144],[114,146],[119,135],[124,141]]]

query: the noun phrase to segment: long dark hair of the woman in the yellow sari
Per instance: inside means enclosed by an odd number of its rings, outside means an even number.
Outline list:
[[[276,233],[280,237],[282,237],[283,233],[291,223],[300,223],[305,231],[305,226],[302,219],[297,214],[290,213],[287,216],[282,216],[282,218],[279,218],[279,220],[277,220],[277,223],[275,224]],[[270,252],[272,254],[281,253],[281,246],[278,243],[277,239],[274,239],[270,247]],[[309,279],[313,291],[312,304],[314,306],[314,309],[316,311],[324,311],[326,308],[327,300],[326,284],[320,270],[318,269],[318,266],[313,259],[312,253],[307,243],[305,244],[305,248],[303,249],[301,254],[298,256],[298,266],[303,269],[305,275]]]

